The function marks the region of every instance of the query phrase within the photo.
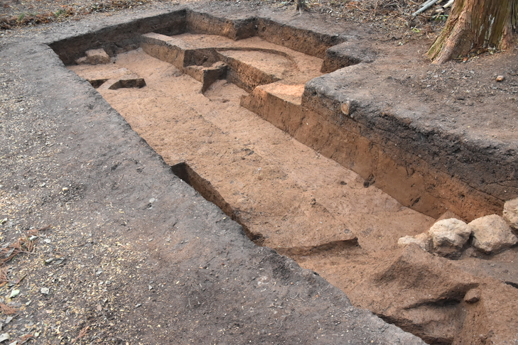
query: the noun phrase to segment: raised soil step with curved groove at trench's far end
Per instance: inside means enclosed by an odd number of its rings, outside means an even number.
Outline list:
[[[141,40],[146,53],[171,63],[181,72],[187,72],[190,66],[210,67],[224,62],[228,66],[227,80],[247,92],[279,80],[305,83],[322,74],[322,59],[258,37],[234,41],[217,35],[146,33]],[[204,83],[203,91],[206,88]]]

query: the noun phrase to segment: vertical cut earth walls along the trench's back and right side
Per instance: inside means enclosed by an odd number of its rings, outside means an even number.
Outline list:
[[[144,35],[141,35],[143,33]],[[396,197],[402,204],[432,217],[439,217],[447,209],[467,220],[484,214],[500,213],[503,200],[517,195],[516,181],[507,182],[505,188],[491,189],[481,185],[480,177],[473,176],[473,169],[480,172],[485,169],[484,164],[492,161],[490,158],[482,157],[480,152],[470,158],[472,162],[465,160],[465,164],[456,164],[452,170],[451,163],[445,164],[443,160],[436,158],[438,150],[442,148],[434,146],[437,142],[427,143],[428,136],[415,133],[415,136],[419,137],[419,142],[422,142],[421,146],[430,145],[429,153],[426,150],[423,152],[422,148],[416,149],[413,143],[406,139],[414,134],[405,135],[401,140],[394,137],[394,133],[397,133],[394,129],[387,136],[385,128],[379,128],[380,126],[374,123],[367,124],[363,120],[364,116],[365,119],[374,116],[379,117],[377,121],[384,121],[384,116],[369,114],[369,109],[363,109],[361,102],[355,99],[338,99],[342,96],[329,94],[329,88],[324,89],[322,93],[319,91],[321,89],[313,87],[315,82],[308,83],[304,92],[297,97],[301,104],[298,104],[299,101],[293,103],[291,100],[279,99],[275,94],[268,96],[267,90],[257,89],[257,86],[271,84],[281,78],[273,74],[265,74],[254,67],[243,65],[243,62],[233,57],[225,56],[225,52],[230,48],[225,46],[224,40],[215,47],[195,50],[168,43],[168,40],[175,40],[175,35],[184,33],[218,34],[222,35],[221,37],[238,39],[234,41],[237,43],[237,48],[236,46],[233,48],[233,51],[237,52],[239,49],[246,48],[246,45],[245,48],[239,47],[239,42],[250,38],[261,38],[323,59],[318,70],[325,72],[351,64],[369,63],[376,56],[372,51],[362,50],[351,42],[345,42],[346,38],[343,35],[315,33],[268,18],[249,17],[230,21],[190,9],[152,17],[146,21],[140,20],[122,26],[102,28],[95,33],[51,43],[50,47],[58,53],[66,65],[71,65],[89,49],[104,48],[110,56],[114,57],[117,53],[141,46],[147,53],[173,63],[193,77],[202,73],[198,80],[203,82],[203,91],[215,80],[227,78],[247,92],[251,92],[248,98],[243,99],[242,105],[269,119],[301,143],[314,148],[326,157],[333,158],[346,168],[355,170],[366,180],[374,177],[374,185]],[[286,37],[291,39],[285,40]],[[167,39],[161,40],[161,38]],[[333,44],[335,44],[334,47]],[[204,77],[208,74],[207,69],[210,69],[214,62],[222,60],[230,67],[211,72],[210,77]],[[193,68],[196,66],[199,66],[198,70],[202,72]],[[240,72],[242,70],[247,72]],[[343,71],[340,74],[354,73],[347,68],[340,71]],[[315,81],[325,80],[326,84],[333,84],[337,78],[334,82],[328,81],[332,78],[331,75],[323,75]],[[316,76],[313,75],[313,77]],[[295,81],[296,84],[300,82],[301,80]],[[283,104],[281,107],[284,107],[284,111],[280,114],[266,114],[269,111],[267,109],[273,109],[275,113],[276,107],[268,106],[265,102]],[[344,106],[347,107],[346,114],[343,112]],[[277,119],[274,119],[276,117]],[[302,125],[304,121],[306,126]],[[288,123],[290,126],[284,126],[281,123]],[[296,124],[298,128],[294,127]],[[400,125],[395,121],[388,124],[390,128],[394,125],[401,126],[403,131],[409,131],[406,124]],[[440,141],[438,143],[442,144]],[[416,154],[417,151],[419,154]],[[427,157],[430,154],[432,156]],[[486,185],[487,181],[501,180],[502,176],[512,174],[508,167],[492,166],[493,170],[495,168],[502,172],[495,171],[494,177],[482,179]]]

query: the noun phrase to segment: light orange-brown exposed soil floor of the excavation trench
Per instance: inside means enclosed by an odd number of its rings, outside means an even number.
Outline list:
[[[269,92],[293,103],[300,104],[303,84],[321,74],[317,57],[260,38],[233,42],[183,34],[171,40],[227,47],[223,54],[278,77]],[[399,248],[399,237],[420,234],[436,219],[404,207],[244,109],[239,105],[247,96],[244,89],[217,80],[201,92],[200,82],[141,49],[112,60],[69,68],[87,80],[117,73],[144,78],[145,87],[109,89],[113,82],[107,82],[97,90],[168,165],[188,170],[183,174],[191,184],[239,221],[257,244],[317,271],[353,304],[430,344],[485,344],[487,334],[475,335],[477,330],[490,332],[500,322],[508,327],[501,332],[512,334],[516,248],[460,261]],[[490,305],[462,300],[474,288]],[[495,296],[495,289],[501,294]],[[505,316],[497,317],[496,310]],[[484,323],[492,326],[485,329]]]

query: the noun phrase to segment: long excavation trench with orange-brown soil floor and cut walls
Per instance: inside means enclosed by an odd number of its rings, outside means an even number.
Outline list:
[[[485,284],[470,275],[477,263],[445,262],[414,246],[399,248],[397,241],[427,231],[447,209],[465,219],[490,213],[499,205],[495,198],[455,180],[446,186],[455,195],[438,198],[429,192],[426,171],[396,164],[403,161],[394,158],[399,151],[311,107],[318,96],[308,82],[362,62],[330,48],[340,41],[297,31],[306,44],[286,44],[279,37],[288,28],[273,22],[254,19],[229,34],[227,24],[210,16],[183,16],[178,21],[188,30],[146,32],[126,38],[118,50],[87,40],[75,50],[66,42],[53,48],[178,177],[239,222],[252,241],[315,270],[355,305],[429,344],[468,344],[475,329],[486,327],[487,310],[464,300]],[[249,33],[254,30],[261,35]],[[214,34],[223,32],[234,39]],[[354,108],[343,99],[340,116]],[[368,170],[374,151],[377,167]],[[347,160],[354,160],[356,172],[345,168],[351,167]],[[473,193],[455,202],[459,190]],[[463,210],[463,202],[472,207]]]

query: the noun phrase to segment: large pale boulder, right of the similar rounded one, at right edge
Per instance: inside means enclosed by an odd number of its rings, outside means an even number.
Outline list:
[[[472,245],[484,253],[500,253],[518,242],[511,227],[496,214],[477,218],[468,227],[473,231]]]

